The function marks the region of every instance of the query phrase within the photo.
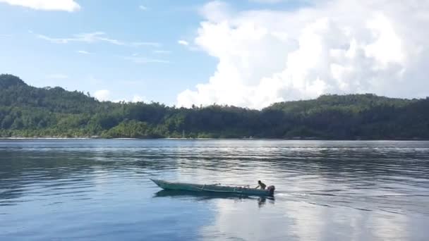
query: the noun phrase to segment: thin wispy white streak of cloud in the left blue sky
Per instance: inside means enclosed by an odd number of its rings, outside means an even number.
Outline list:
[[[66,38],[56,38],[49,37],[46,35],[37,35],[38,38],[47,40],[54,44],[68,44],[71,42],[85,42],[85,43],[95,43],[95,42],[106,42],[109,44],[127,46],[127,47],[140,47],[140,46],[150,46],[150,47],[160,47],[161,44],[157,42],[123,42],[118,39],[111,39],[106,36],[104,32],[87,32],[73,35],[72,37]]]

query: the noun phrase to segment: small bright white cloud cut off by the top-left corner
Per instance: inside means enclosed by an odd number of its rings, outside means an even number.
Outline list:
[[[44,11],[78,11],[80,6],[73,0],[0,0],[0,3],[24,6]]]

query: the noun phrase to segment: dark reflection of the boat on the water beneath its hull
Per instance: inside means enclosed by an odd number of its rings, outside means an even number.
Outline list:
[[[270,204],[274,204],[274,197],[255,197],[243,194],[219,193],[219,192],[191,192],[183,190],[161,190],[156,192],[154,197],[171,197],[171,198],[184,198],[194,199],[197,201],[210,200],[210,199],[231,199],[231,200],[244,200],[255,199],[258,201],[258,206],[265,206],[267,199]]]

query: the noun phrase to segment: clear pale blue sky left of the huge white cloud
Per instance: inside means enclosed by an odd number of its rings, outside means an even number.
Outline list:
[[[178,44],[192,42],[205,1],[77,1],[78,11],[40,11],[0,3],[0,70],[36,87],[61,86],[110,99],[176,104],[176,96],[210,78],[216,59]],[[237,1],[241,8],[261,4]],[[270,6],[272,7],[272,6]],[[83,33],[104,32],[109,42],[49,42]],[[147,61],[147,63],[145,63]],[[137,63],[135,63],[137,62]],[[141,62],[141,63],[140,63]]]

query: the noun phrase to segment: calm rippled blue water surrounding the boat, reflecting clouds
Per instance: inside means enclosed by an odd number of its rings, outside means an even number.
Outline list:
[[[0,240],[429,240],[428,225],[429,142],[0,140]]]

